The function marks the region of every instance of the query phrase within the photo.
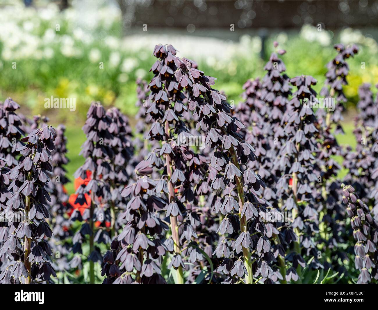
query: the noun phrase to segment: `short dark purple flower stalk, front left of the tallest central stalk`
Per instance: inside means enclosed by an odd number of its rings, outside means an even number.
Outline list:
[[[155,193],[158,184],[149,178],[151,172],[149,162],[141,161],[135,167],[136,182],[121,191],[122,197],[130,197],[126,210],[119,214],[127,224],[104,255],[104,284],[166,283],[160,264],[167,251],[161,239],[168,226],[158,213],[166,201]]]

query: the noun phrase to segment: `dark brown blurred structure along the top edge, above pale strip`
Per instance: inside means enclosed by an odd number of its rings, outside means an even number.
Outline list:
[[[118,0],[125,28],[376,28],[377,0]]]

